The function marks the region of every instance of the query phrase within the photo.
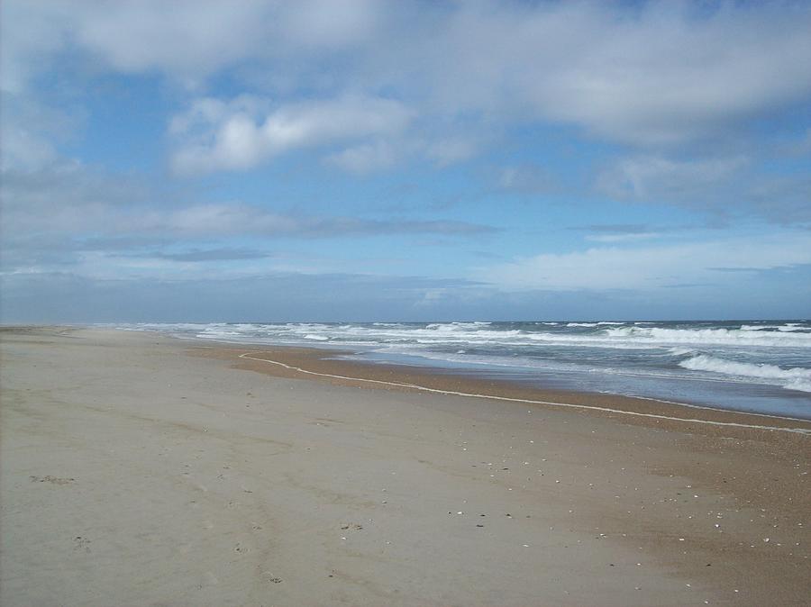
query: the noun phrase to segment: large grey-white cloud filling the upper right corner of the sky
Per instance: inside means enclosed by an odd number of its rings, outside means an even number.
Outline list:
[[[727,131],[811,92],[811,12],[690,14],[597,3],[460,5],[434,44],[434,95],[514,120],[570,122],[636,145]],[[421,56],[422,57],[422,56]]]

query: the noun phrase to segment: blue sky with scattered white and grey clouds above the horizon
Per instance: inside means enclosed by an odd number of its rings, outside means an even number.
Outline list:
[[[4,0],[0,321],[811,316],[811,2]]]

